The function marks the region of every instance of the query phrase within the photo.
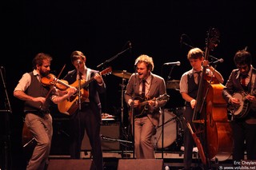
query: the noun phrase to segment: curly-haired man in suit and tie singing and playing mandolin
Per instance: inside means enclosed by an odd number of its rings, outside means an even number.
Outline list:
[[[166,83],[162,77],[151,73],[154,69],[152,57],[140,55],[135,60],[135,67],[137,73],[131,75],[124,95],[133,113],[130,121],[134,127],[134,152],[137,159],[154,159],[151,137],[159,123],[159,109],[168,101],[160,100],[166,96]]]

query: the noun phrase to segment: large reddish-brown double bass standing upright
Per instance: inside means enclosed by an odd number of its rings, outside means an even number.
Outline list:
[[[206,39],[205,60],[208,60],[209,52],[218,45],[218,38],[218,30],[210,28]],[[192,122],[198,124],[194,132],[197,137],[195,143],[199,146],[202,163],[209,165],[212,159],[226,160],[230,157],[233,137],[227,117],[227,104],[222,97],[224,85],[215,77],[206,75],[206,66],[203,66],[202,75],[204,78],[201,78],[198,85]]]

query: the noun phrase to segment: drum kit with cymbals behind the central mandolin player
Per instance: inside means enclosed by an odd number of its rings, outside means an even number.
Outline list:
[[[126,87],[125,81],[129,79],[132,73],[126,72],[126,70],[114,70],[112,74],[116,77],[122,78],[122,108],[121,116],[123,121],[123,94]],[[166,89],[179,89],[179,81],[172,80],[166,81]],[[167,148],[171,144],[180,144],[183,137],[183,125],[182,125],[182,113],[184,107],[175,109],[163,109],[160,111],[159,125],[156,127],[156,133],[152,136],[152,142],[156,148]],[[162,123],[162,115],[164,115],[164,123]],[[162,136],[163,135],[163,136]],[[163,140],[162,140],[163,138]],[[163,147],[162,147],[163,146]]]

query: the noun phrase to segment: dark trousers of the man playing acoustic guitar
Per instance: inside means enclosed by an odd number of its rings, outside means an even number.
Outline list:
[[[85,130],[92,148],[93,164],[91,169],[102,170],[102,143],[100,137],[101,122],[89,105],[82,107],[81,111],[70,117],[70,157],[80,158],[80,150]]]

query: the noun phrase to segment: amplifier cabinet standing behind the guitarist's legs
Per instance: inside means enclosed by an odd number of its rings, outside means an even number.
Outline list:
[[[102,137],[102,150],[119,150],[119,123],[112,123],[109,125],[101,126],[101,135]],[[105,139],[104,139],[105,138]],[[91,150],[89,138],[85,132],[85,136],[82,140],[81,150]]]

